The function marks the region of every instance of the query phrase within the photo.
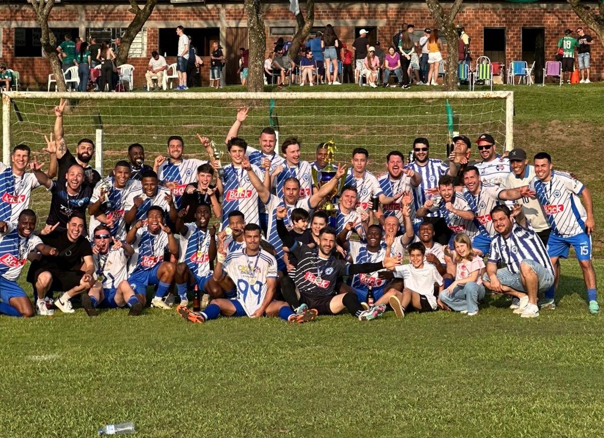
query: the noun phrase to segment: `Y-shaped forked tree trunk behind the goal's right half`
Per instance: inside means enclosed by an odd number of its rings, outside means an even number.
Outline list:
[[[447,39],[447,64],[446,74],[443,80],[443,90],[457,91],[457,65],[458,65],[458,43],[459,36],[455,29],[455,16],[461,7],[463,0],[455,0],[448,13],[445,13],[439,0],[426,0],[432,19],[439,27],[440,33]]]

